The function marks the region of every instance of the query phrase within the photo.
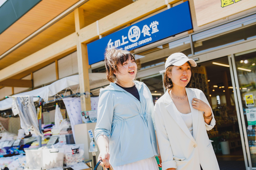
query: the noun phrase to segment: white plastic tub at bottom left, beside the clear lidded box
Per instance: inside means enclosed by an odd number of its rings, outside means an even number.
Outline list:
[[[28,169],[63,167],[64,149],[25,150]]]

